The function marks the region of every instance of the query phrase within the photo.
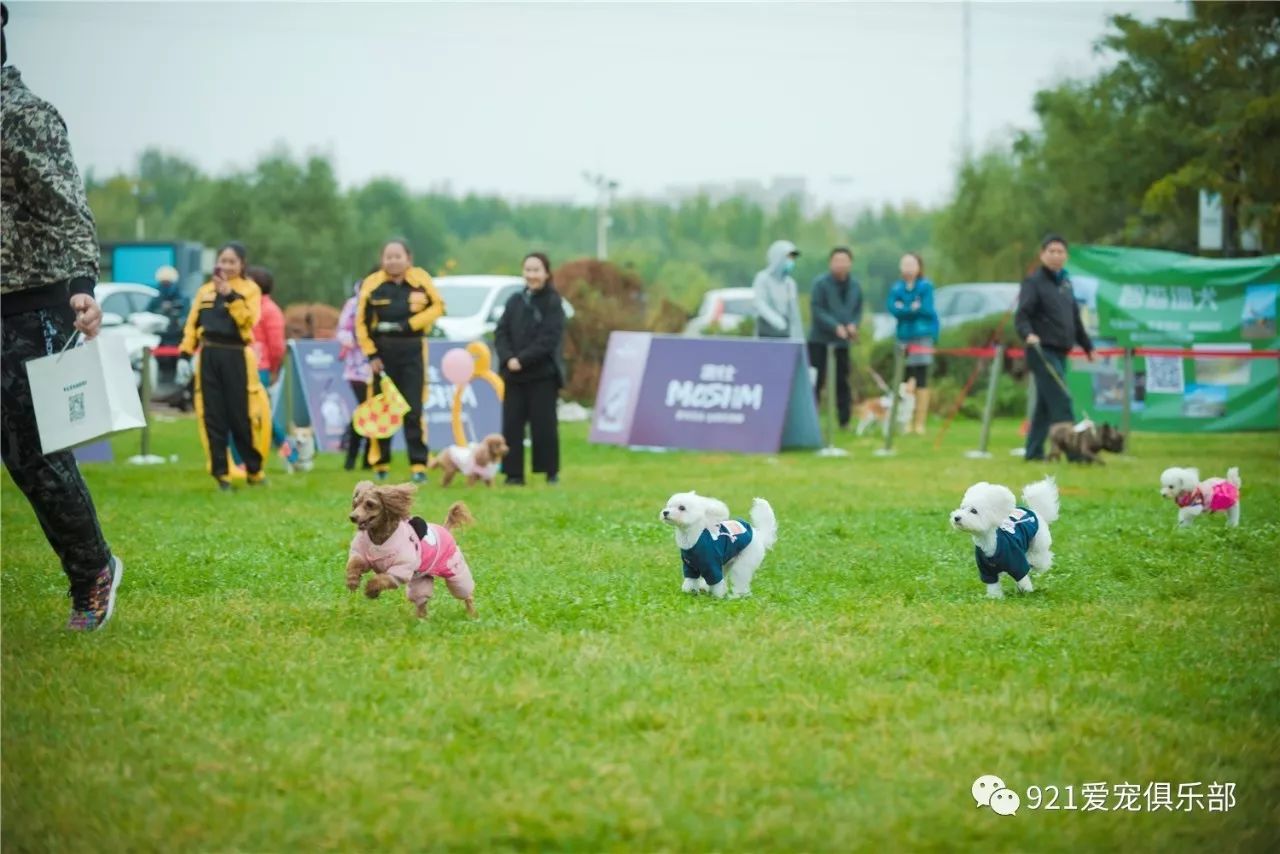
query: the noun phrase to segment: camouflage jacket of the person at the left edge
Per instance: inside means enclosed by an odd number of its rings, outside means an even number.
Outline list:
[[[97,236],[63,117],[17,68],[0,69],[0,293],[29,307],[92,293]]]

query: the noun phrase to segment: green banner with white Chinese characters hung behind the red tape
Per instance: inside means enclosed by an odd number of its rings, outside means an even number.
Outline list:
[[[1171,433],[1280,428],[1280,361],[1243,353],[1280,347],[1280,256],[1202,259],[1114,246],[1073,247],[1080,315],[1100,348],[1238,351],[1242,357],[1137,356],[1132,426]],[[1124,360],[1074,360],[1076,412],[1119,421]]]

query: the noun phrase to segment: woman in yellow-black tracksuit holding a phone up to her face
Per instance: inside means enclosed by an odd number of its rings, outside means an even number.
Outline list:
[[[262,465],[271,446],[271,415],[252,348],[261,300],[257,284],[244,278],[244,247],[228,243],[218,251],[214,278],[191,301],[179,346],[183,359],[191,359],[200,347],[196,420],[209,474],[220,489],[230,489],[228,434],[244,460],[248,483],[257,485],[265,478]]]

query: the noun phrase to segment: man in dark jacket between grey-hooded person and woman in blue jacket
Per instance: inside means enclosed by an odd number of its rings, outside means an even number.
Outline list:
[[[863,288],[850,270],[854,254],[845,246],[831,251],[828,271],[813,280],[809,309],[809,364],[818,371],[814,397],[822,403],[827,383],[827,348],[836,353],[836,414],[840,426],[849,426],[852,399],[849,388],[849,346],[858,343],[858,326],[863,321]]]

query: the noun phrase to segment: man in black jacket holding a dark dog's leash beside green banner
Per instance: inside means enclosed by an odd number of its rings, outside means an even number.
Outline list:
[[[1027,341],[1027,365],[1036,375],[1036,410],[1027,431],[1027,460],[1044,458],[1050,426],[1075,421],[1066,391],[1066,355],[1079,344],[1093,361],[1093,342],[1080,320],[1080,306],[1066,274],[1066,241],[1050,234],[1041,242],[1041,266],[1023,279],[1014,326]]]

